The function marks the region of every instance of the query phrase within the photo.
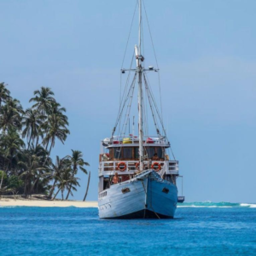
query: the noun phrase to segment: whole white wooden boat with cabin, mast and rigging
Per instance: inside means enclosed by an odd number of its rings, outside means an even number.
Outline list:
[[[158,68],[143,67],[142,55],[142,1],[139,5],[139,40],[135,46],[136,68],[121,69],[121,73],[134,73],[131,86],[126,90],[123,104],[119,106],[117,122],[110,138],[102,140],[99,164],[99,217],[100,218],[173,218],[177,201],[184,197],[177,196],[178,161],[174,155],[162,127],[157,125],[158,116],[163,126],[162,117],[154,104],[154,96],[148,85],[145,73],[158,72]],[[138,88],[138,136],[125,135],[130,121],[130,110],[135,85]],[[144,133],[143,94],[148,96],[152,111],[156,136]],[[127,107],[127,108],[125,108]],[[124,125],[118,124],[126,110]],[[133,119],[134,124],[134,119]],[[119,126],[120,127],[120,126]],[[116,135],[116,133],[118,133]]]

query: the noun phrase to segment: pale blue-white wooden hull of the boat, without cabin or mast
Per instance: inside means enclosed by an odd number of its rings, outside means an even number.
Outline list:
[[[114,184],[99,195],[100,218],[173,218],[176,207],[176,185],[154,171]]]

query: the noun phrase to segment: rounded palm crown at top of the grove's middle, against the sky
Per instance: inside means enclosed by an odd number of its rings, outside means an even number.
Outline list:
[[[42,114],[49,113],[51,103],[55,102],[55,94],[49,87],[41,87],[41,90],[34,91],[34,97],[29,102],[36,102],[32,108],[38,109]]]

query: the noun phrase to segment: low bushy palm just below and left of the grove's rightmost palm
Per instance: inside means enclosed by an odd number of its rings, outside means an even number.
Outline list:
[[[55,197],[58,195],[58,193],[61,190],[61,198],[62,201],[64,200],[64,190],[68,189],[71,186],[71,195],[73,195],[72,190],[77,191],[76,186],[80,186],[78,182],[78,177],[73,177],[73,173],[71,172],[71,169],[67,168],[64,172],[61,172],[61,176],[58,177],[58,191],[55,194],[53,200],[55,200]]]

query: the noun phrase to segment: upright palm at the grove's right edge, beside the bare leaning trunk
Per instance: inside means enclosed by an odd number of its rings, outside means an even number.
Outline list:
[[[84,172],[85,174],[87,174],[86,169],[84,168],[84,166],[90,166],[89,163],[85,162],[83,160],[83,154],[81,151],[79,150],[73,150],[72,149],[72,155],[68,157],[70,160],[70,167],[72,169],[72,175],[73,177],[78,173],[79,169]],[[68,196],[70,194],[71,191],[71,185],[68,189],[67,192],[67,196],[66,196],[66,200],[68,199]]]

